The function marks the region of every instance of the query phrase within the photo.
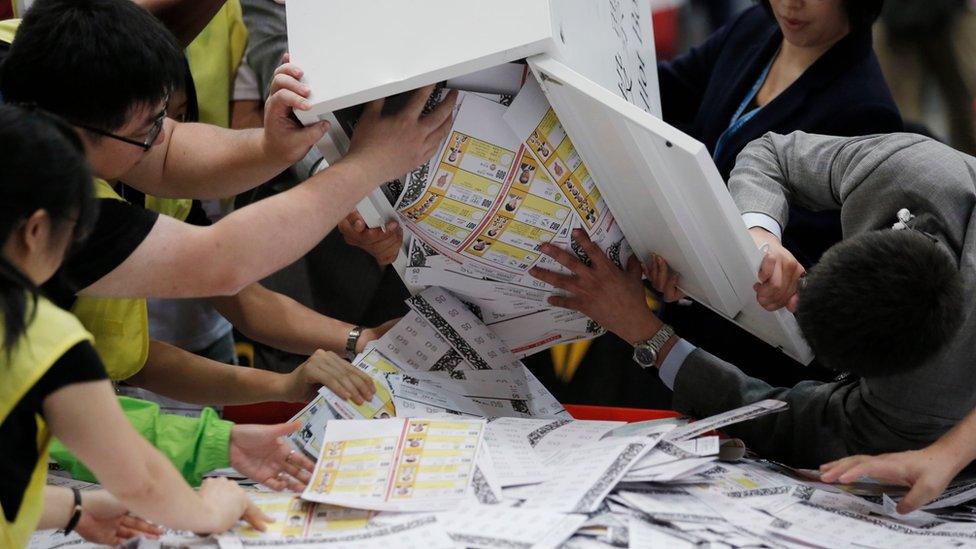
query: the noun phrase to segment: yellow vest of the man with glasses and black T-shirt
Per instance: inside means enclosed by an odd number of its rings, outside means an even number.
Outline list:
[[[95,196],[122,200],[112,187],[95,180]],[[149,310],[144,298],[78,296],[71,312],[95,336],[95,350],[112,381],[134,376],[149,356]]]

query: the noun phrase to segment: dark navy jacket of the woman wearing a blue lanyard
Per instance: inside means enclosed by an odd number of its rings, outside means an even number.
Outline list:
[[[664,120],[709,151],[783,41],[756,6],[685,55],[658,63]],[[834,45],[728,141],[716,159],[728,179],[735,157],[766,132],[857,136],[903,130],[868,29]]]

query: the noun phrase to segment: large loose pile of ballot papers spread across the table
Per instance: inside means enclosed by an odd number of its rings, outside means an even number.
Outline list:
[[[565,414],[333,419],[317,435],[318,461],[303,494],[252,489],[275,519],[266,532],[168,532],[129,546],[976,547],[976,511],[964,505],[976,497],[976,482],[898,515],[892,487],[861,492],[863,483],[825,485],[755,457],[719,459],[716,429],[785,410],[763,401],[698,421],[636,424]],[[66,545],[91,546],[54,531],[31,542]]]

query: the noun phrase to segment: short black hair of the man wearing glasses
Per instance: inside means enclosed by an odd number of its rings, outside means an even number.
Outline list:
[[[17,29],[0,94],[113,131],[182,79],[176,39],[131,0],[38,0]]]

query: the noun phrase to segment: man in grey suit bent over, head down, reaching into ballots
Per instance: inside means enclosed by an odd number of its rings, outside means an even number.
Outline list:
[[[920,448],[976,406],[976,158],[914,134],[767,134],[739,155],[729,191],[767,250],[757,299],[795,311],[819,360],[845,374],[837,381],[773,387],[696,348],[644,305],[637,260],[617,269],[585,235],[591,267],[550,248],[572,275],[533,275],[568,292],[551,304],[635,344],[682,413],[787,401],[727,431],[790,465]],[[809,273],[779,241],[790,204],[840,211],[844,240]],[[649,258],[646,274],[665,300],[682,297],[663,259]]]

